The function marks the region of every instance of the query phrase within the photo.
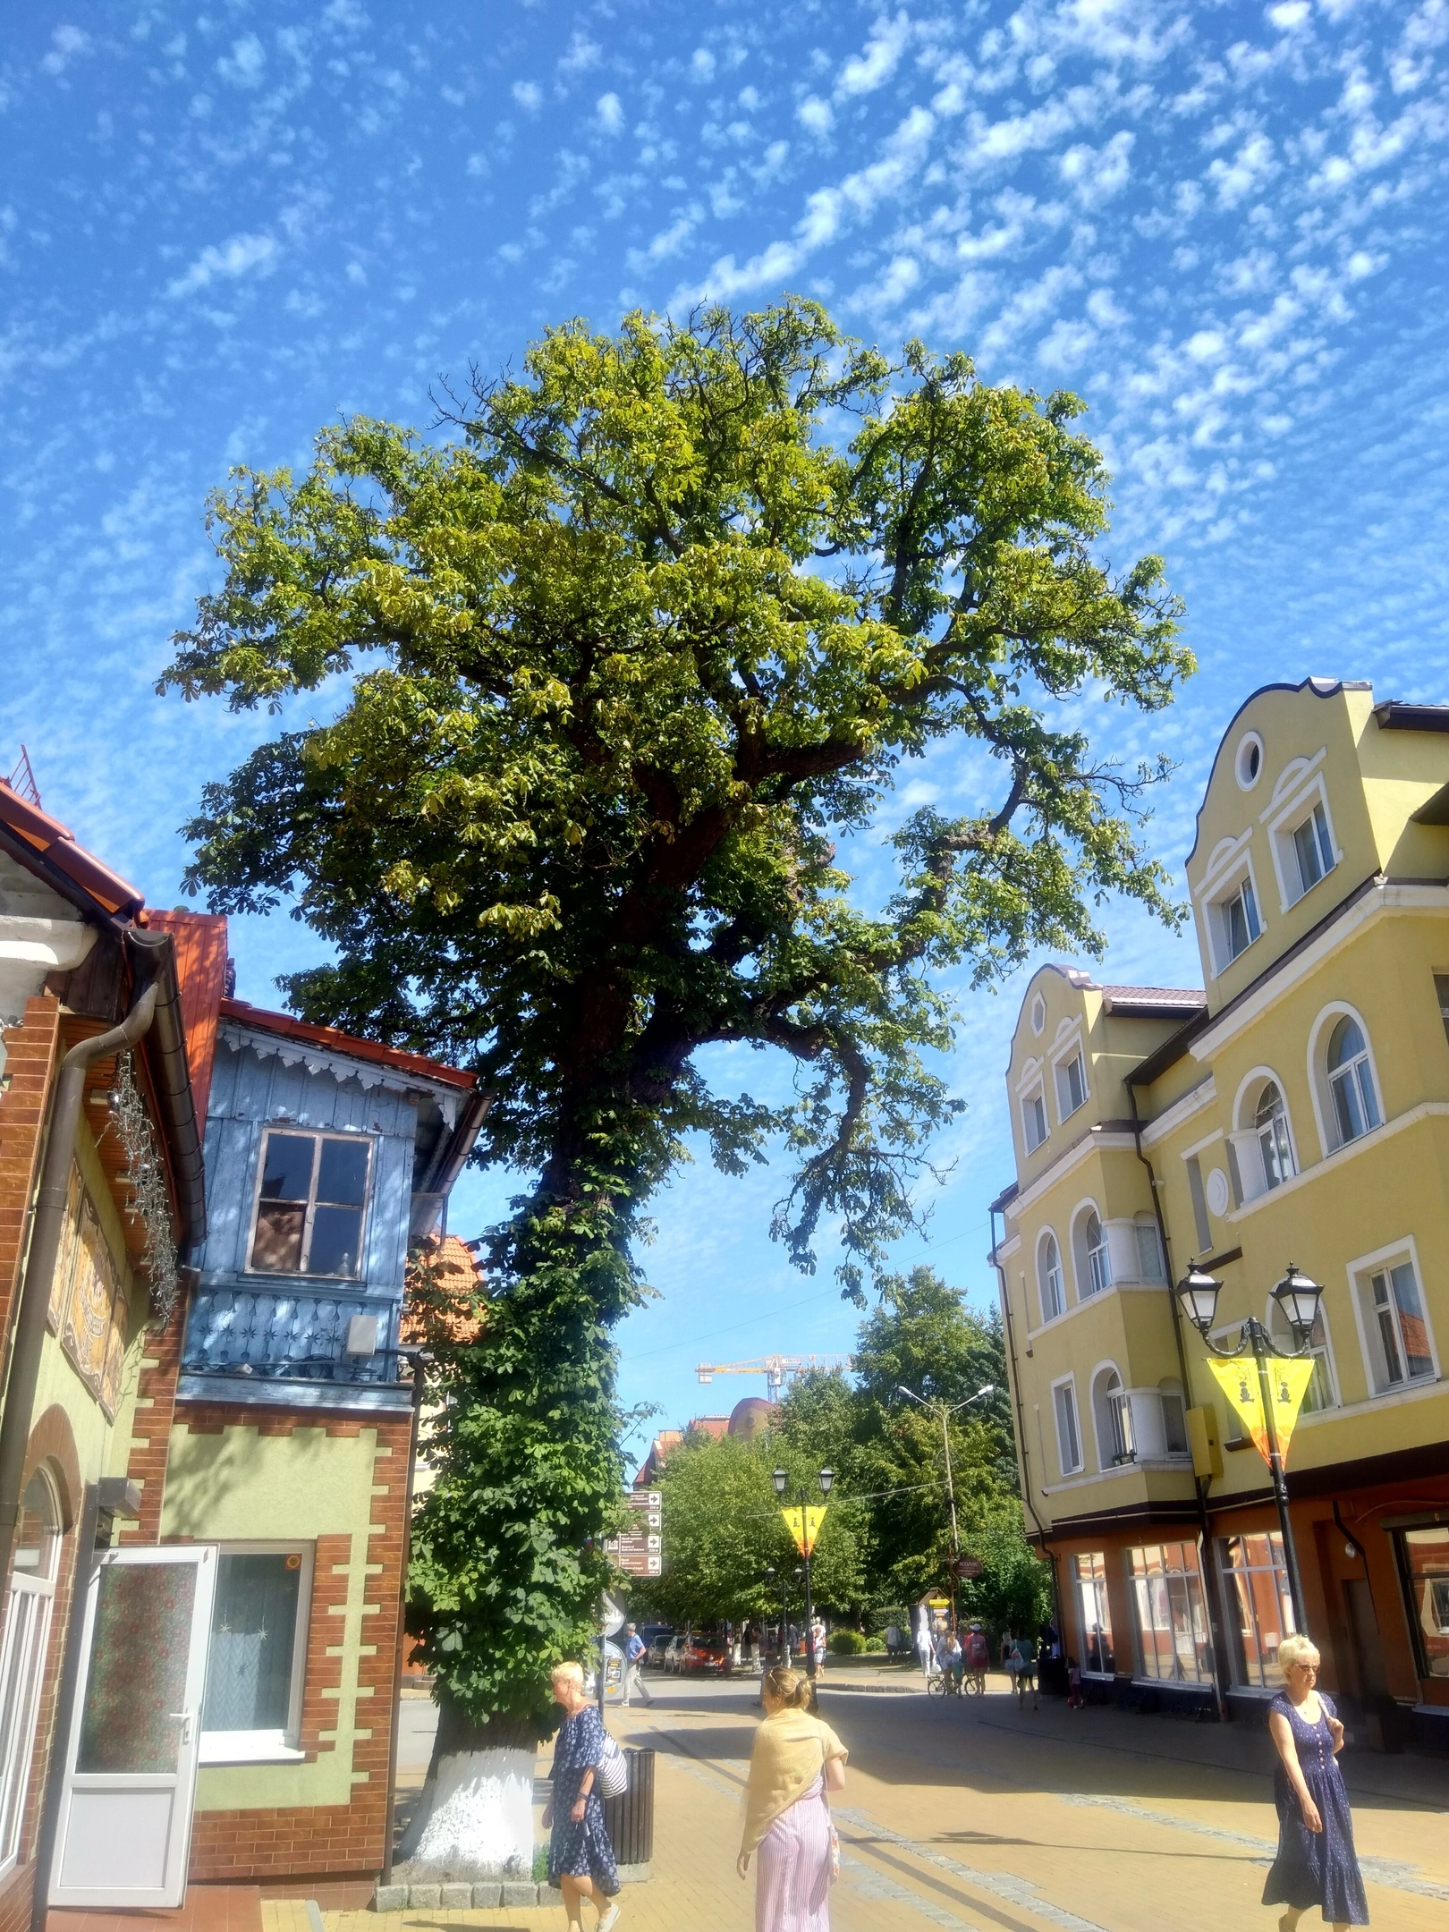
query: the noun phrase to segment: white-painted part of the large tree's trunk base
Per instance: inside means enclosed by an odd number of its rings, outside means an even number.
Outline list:
[[[533,1752],[460,1750],[423,1785],[400,1882],[533,1876]]]

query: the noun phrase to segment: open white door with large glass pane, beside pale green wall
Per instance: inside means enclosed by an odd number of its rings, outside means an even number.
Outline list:
[[[85,1600],[52,1905],[180,1905],[216,1548],[108,1549]]]

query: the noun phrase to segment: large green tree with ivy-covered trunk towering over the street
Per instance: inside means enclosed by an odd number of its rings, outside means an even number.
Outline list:
[[[1097,556],[1074,396],[889,363],[808,301],[572,323],[444,413],[236,473],[162,688],[327,694],[207,786],[189,883],[290,904],[334,952],[294,1009],[475,1066],[481,1157],[531,1177],[417,1528],[444,1731],[524,1737],[605,1573],[641,1204],[690,1134],[728,1169],[782,1138],[777,1233],[811,1267],[825,1221],[860,1294],[954,1111],[933,976],[1095,951],[1111,891],[1173,916],[1136,825],[1157,767],[1105,759],[1080,701],[1155,711],[1190,657],[1159,560]],[[898,821],[869,910],[835,840],[937,746],[976,804]],[[794,1099],[713,1090],[719,1041],[792,1059]]]

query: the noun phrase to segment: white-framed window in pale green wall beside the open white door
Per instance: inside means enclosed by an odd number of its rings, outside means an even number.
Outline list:
[[[298,1754],[309,1549],[222,1549],[211,1613],[201,1760]]]

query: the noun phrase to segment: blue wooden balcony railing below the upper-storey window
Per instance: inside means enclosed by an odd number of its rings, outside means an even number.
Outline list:
[[[350,1354],[354,1316],[377,1321],[373,1354]],[[363,1296],[199,1289],[191,1300],[182,1372],[263,1381],[398,1383],[398,1306]],[[352,1341],[355,1343],[355,1331]]]

